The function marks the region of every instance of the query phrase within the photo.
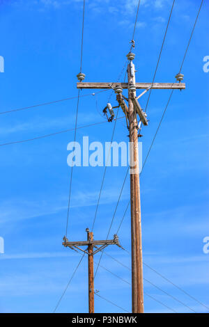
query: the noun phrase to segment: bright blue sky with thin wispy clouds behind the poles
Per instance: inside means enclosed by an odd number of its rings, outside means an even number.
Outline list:
[[[141,1],[135,33],[137,81],[152,81],[166,29],[171,0]],[[173,82],[185,53],[200,0],[176,0],[155,81]],[[77,95],[82,1],[0,1],[1,51],[5,72],[0,74],[1,111]],[[86,81],[116,81],[129,50],[137,0],[86,1],[83,72]],[[141,175],[144,262],[209,306],[208,260],[203,238],[208,223],[208,77],[203,57],[209,55],[208,1],[204,1],[183,65],[186,90],[176,91],[153,150]],[[82,94],[89,93],[82,90]],[[98,108],[107,104],[109,91],[98,95]],[[149,126],[142,138],[145,158],[168,90],[153,90],[148,105]],[[141,100],[146,104],[147,96]],[[116,99],[111,97],[112,105]],[[75,124],[76,99],[1,115],[0,143],[33,138],[70,129]],[[122,115],[122,112],[120,113]],[[80,100],[78,125],[102,121],[95,97]],[[113,123],[79,129],[77,141],[111,140]],[[65,233],[70,168],[67,145],[73,132],[37,141],[0,147],[0,311],[52,312],[80,256],[61,245]],[[118,120],[114,141],[127,141],[125,121]],[[95,239],[103,239],[123,183],[126,168],[107,168]],[[91,228],[102,182],[103,167],[75,168],[68,237],[86,239]],[[129,200],[129,182],[116,213],[110,237]],[[130,212],[119,233],[130,249]],[[107,253],[130,266],[130,256],[116,247]],[[95,256],[98,261],[99,255]],[[128,282],[130,271],[104,256],[107,267]],[[176,296],[196,312],[203,306],[144,267],[144,277]],[[87,312],[87,261],[84,259],[57,312]],[[95,279],[100,295],[131,310],[130,285],[102,268]],[[188,308],[144,283],[144,289],[177,312]],[[146,312],[169,312],[148,296]],[[96,312],[120,309],[95,298]]]

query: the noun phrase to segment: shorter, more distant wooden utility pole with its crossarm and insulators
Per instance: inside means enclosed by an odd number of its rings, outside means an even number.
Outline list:
[[[89,232],[86,228],[87,241],[68,241],[66,237],[63,237],[63,246],[71,248],[77,252],[82,251],[88,255],[88,313],[94,313],[94,276],[93,276],[93,255],[104,250],[109,245],[116,244],[122,248],[119,243],[118,236],[115,234],[114,239],[106,239],[102,241],[95,241],[93,239],[93,232]],[[87,246],[86,250],[80,248],[80,246]]]

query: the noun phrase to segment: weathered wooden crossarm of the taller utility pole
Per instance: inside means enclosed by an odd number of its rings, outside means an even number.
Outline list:
[[[77,83],[77,88],[115,88],[116,86],[121,86],[122,88],[128,88],[128,83]],[[136,88],[154,88],[158,90],[166,89],[177,89],[183,90],[186,88],[185,83],[136,83]]]

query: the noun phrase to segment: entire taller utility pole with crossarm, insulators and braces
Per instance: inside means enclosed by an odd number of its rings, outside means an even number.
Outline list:
[[[132,239],[132,312],[144,312],[144,292],[143,292],[143,260],[142,260],[142,242],[141,242],[141,203],[140,203],[140,185],[139,185],[139,149],[138,137],[140,135],[141,124],[147,126],[148,120],[146,113],[141,109],[138,99],[143,96],[150,88],[154,89],[185,89],[183,74],[177,74],[176,80],[178,83],[136,83],[134,54],[127,54],[129,61],[127,66],[128,83],[83,83],[85,77],[80,73],[77,75],[79,83],[77,88],[93,88],[107,89],[113,88],[117,94],[116,99],[119,106],[125,113],[127,128],[129,129],[130,137],[130,203],[131,203],[131,239]],[[123,89],[128,89],[128,98],[123,95]],[[138,97],[137,89],[144,89]],[[125,103],[125,100],[128,102]],[[107,104],[110,109],[109,113],[112,118],[112,107]],[[139,125],[137,122],[139,115]],[[111,119],[112,120],[112,119]],[[111,121],[109,120],[109,121]],[[139,132],[139,134],[138,134]]]

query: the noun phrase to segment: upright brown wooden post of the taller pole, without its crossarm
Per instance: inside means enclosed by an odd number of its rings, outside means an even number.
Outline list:
[[[134,58],[134,56],[132,57]],[[130,204],[132,219],[132,312],[144,312],[143,262],[141,246],[141,203],[139,186],[138,122],[133,99],[136,98],[135,67],[128,66],[128,120],[130,137]]]

